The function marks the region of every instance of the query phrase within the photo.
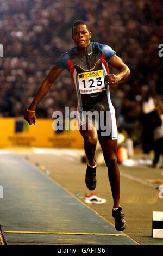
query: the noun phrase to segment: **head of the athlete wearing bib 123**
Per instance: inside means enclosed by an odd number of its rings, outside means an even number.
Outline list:
[[[72,39],[79,48],[86,48],[90,44],[91,32],[87,30],[85,24],[73,27]]]

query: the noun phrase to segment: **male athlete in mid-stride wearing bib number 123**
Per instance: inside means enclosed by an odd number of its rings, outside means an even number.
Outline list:
[[[109,86],[127,78],[129,68],[115,51],[108,45],[90,42],[91,32],[84,21],[77,21],[72,26],[72,39],[76,47],[63,54],[55,63],[27,109],[24,119],[36,125],[35,108],[41,99],[48,93],[52,83],[67,69],[76,86],[78,97],[78,112],[83,117],[84,111],[110,113],[110,121],[105,122],[109,134],[103,136],[102,129],[97,130],[94,123],[88,119],[80,119],[80,133],[84,138],[84,149],[87,156],[85,182],[87,188],[96,187],[95,150],[97,139],[101,144],[106,166],[108,167],[109,181],[114,205],[112,216],[115,218],[115,228],[122,231],[126,228],[126,221],[120,206],[120,172],[117,166],[117,127],[115,110],[110,100]],[[117,74],[109,74],[108,63],[118,69]],[[106,115],[105,115],[106,117]],[[82,129],[86,125],[86,129]]]

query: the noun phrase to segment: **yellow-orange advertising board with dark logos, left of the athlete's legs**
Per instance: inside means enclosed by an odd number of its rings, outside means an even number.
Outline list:
[[[54,122],[54,119],[37,118],[35,126],[23,118],[0,118],[0,147],[83,148],[78,130],[54,130]]]

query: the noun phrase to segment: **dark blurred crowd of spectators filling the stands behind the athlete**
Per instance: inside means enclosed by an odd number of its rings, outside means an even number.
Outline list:
[[[85,20],[92,41],[110,45],[131,70],[128,80],[111,88],[118,124],[139,144],[142,95],[147,89],[162,102],[163,72],[158,45],[163,43],[161,0],[0,0],[0,116],[23,115],[36,89],[59,56],[74,46],[71,26]],[[114,70],[110,69],[110,72]],[[52,118],[77,97],[67,71],[37,108]]]

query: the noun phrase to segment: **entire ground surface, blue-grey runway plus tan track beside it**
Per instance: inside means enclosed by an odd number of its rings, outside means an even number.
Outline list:
[[[0,225],[7,245],[163,245],[153,239],[152,211],[162,200],[151,182],[161,169],[121,166],[121,205],[127,228],[118,232],[111,216],[112,197],[105,166],[98,166],[97,196],[107,202],[84,204],[90,194],[81,150],[1,150]]]

